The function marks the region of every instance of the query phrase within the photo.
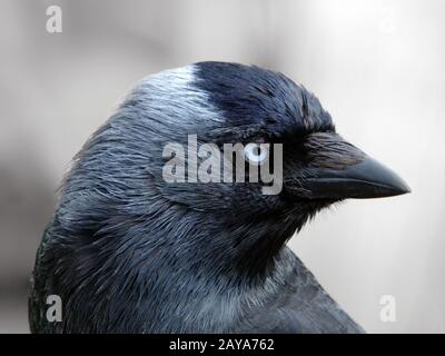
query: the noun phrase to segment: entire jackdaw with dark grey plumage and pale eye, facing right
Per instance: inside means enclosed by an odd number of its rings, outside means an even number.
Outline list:
[[[271,182],[250,179],[248,159],[241,181],[192,180],[191,158],[171,170],[185,179],[168,181],[166,165],[187,160],[179,148],[189,151],[190,136],[222,158],[226,144],[268,144],[244,157],[271,165],[281,145],[281,186],[265,194]],[[166,157],[168,145],[179,148]],[[337,201],[408,191],[279,72],[199,62],[149,76],[63,180],[37,251],[31,332],[362,333],[286,243]],[[61,316],[51,319],[55,300]]]

